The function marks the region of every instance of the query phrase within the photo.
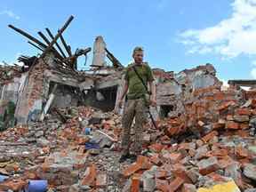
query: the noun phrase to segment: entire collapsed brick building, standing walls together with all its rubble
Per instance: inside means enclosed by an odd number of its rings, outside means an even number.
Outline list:
[[[118,164],[122,109],[113,110],[124,66],[97,36],[90,69],[78,70],[91,48],[71,52],[62,33],[72,19],[56,36],[46,29],[52,41],[39,32],[44,43],[10,26],[42,53],[0,68],[0,190],[19,191],[28,180],[70,192],[255,190],[256,92],[239,88],[253,82],[230,81],[223,91],[209,63],[154,68],[157,128],[147,124],[137,162]]]

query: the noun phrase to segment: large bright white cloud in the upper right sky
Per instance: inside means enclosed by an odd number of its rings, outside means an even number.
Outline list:
[[[256,55],[256,0],[234,0],[231,6],[233,13],[228,19],[180,34],[189,53],[214,52],[225,58]]]

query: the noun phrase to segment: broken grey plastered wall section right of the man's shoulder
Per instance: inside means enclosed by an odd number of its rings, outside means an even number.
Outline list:
[[[185,113],[184,103],[192,99],[193,92],[207,87],[220,88],[221,82],[216,77],[216,70],[211,64],[185,69],[177,74],[154,71],[156,78],[156,103],[160,116],[169,110],[168,116]]]

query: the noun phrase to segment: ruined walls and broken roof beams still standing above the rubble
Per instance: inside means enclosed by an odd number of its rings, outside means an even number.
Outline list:
[[[71,106],[92,106],[103,111],[116,108],[117,98],[122,92],[123,66],[116,57],[108,51],[107,44],[102,36],[98,36],[93,44],[93,56],[91,69],[79,71],[76,68],[76,59],[81,54],[87,54],[91,48],[80,50],[72,55],[70,46],[60,34],[60,40],[68,52],[68,58],[55,42],[60,53],[52,46],[50,40],[42,32],[38,34],[46,44],[41,43],[35,37],[26,32],[10,26],[20,34],[29,37],[41,46],[44,51],[40,57],[20,57],[24,63],[23,68],[18,69],[16,76],[8,81],[1,82],[1,100],[9,100],[16,106],[15,121],[17,124],[27,124],[43,120],[49,108],[66,108]],[[52,33],[46,29],[49,36]],[[36,39],[36,40],[35,40]],[[52,36],[52,42],[54,37]],[[32,44],[32,43],[30,43]],[[47,46],[48,45],[48,46]],[[67,54],[67,53],[66,53]],[[106,65],[106,56],[112,66]],[[8,67],[5,67],[8,68]],[[8,73],[12,73],[12,68]],[[17,73],[16,69],[16,73]],[[14,72],[13,72],[14,73]],[[165,72],[162,69],[153,69],[157,84],[157,106],[161,116],[167,116],[169,112],[182,113],[180,102],[181,92],[193,92],[195,89],[211,85],[221,85],[215,76],[215,69],[208,64],[192,70],[184,70],[178,74]],[[154,113],[154,110],[152,110]],[[158,116],[155,112],[155,116]]]

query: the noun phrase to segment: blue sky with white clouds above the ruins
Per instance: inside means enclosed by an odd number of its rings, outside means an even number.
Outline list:
[[[33,36],[44,28],[56,34],[70,15],[63,36],[73,51],[103,36],[124,66],[140,45],[152,68],[179,72],[212,63],[223,81],[256,79],[256,0],[1,0],[0,62],[40,53],[8,24]],[[91,60],[92,52],[79,68]]]

